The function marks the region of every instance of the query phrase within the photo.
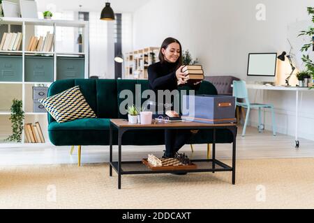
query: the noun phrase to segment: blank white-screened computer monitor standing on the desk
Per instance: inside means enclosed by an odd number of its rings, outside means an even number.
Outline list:
[[[251,53],[248,54],[248,83],[276,82],[277,53]]]

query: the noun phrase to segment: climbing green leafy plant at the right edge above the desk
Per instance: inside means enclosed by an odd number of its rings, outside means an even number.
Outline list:
[[[314,8],[313,7],[308,7],[308,15],[312,16],[312,22],[314,24]],[[314,42],[314,27],[310,27],[307,31],[301,31],[299,36],[310,36],[312,38],[312,42],[311,43],[306,43],[302,48],[301,48],[301,52],[308,52],[308,49],[311,49],[311,47],[313,46],[313,42]],[[302,56],[302,61],[304,61],[304,63],[306,64],[306,69],[308,70],[308,72],[310,73],[310,75],[312,75],[312,77],[314,78],[314,63],[313,61],[310,59],[309,54],[304,54]]]

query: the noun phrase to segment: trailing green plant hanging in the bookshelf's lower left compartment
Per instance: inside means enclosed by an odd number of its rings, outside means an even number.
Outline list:
[[[22,100],[13,100],[13,104],[11,106],[11,116],[10,121],[12,123],[12,131],[8,139],[5,141],[22,141],[22,132],[23,132],[23,119],[24,119],[24,111],[22,109]]]

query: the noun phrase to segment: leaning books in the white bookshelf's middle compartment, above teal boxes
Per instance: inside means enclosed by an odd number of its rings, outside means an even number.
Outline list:
[[[36,36],[31,36],[29,39],[29,45],[27,45],[27,51],[34,52],[52,52],[54,45],[54,34],[47,31],[47,35],[45,37],[40,36],[39,38]]]

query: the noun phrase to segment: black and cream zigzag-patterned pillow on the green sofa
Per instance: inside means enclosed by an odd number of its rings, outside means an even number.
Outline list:
[[[63,91],[49,98],[38,100],[58,122],[65,123],[79,118],[97,118],[80,91],[80,86]]]

